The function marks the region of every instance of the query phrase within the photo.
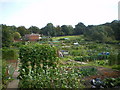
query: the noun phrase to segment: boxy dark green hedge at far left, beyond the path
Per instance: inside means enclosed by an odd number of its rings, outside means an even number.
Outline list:
[[[2,49],[2,59],[17,60],[18,59],[18,50],[3,48]]]

